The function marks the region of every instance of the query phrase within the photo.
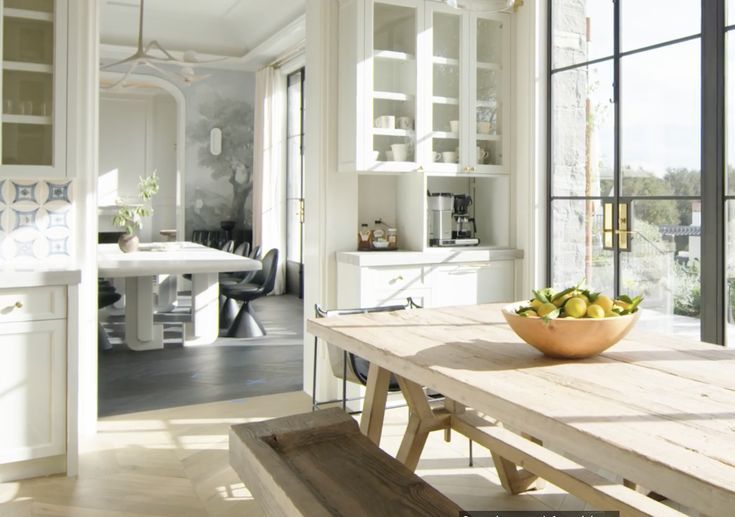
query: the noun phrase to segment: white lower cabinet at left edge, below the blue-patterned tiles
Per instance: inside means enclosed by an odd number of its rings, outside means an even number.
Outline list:
[[[66,453],[67,287],[0,289],[0,465]]]

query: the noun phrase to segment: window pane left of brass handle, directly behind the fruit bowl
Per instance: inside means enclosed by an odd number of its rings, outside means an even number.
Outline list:
[[[569,287],[584,279],[592,289],[612,294],[613,252],[605,249],[602,202],[555,200],[551,221],[552,284]]]

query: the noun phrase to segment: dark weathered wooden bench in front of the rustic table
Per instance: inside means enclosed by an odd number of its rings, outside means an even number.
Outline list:
[[[268,516],[457,516],[341,409],[234,425],[230,464]]]

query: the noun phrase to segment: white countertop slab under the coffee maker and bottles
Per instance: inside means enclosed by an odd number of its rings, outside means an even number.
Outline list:
[[[432,248],[426,251],[340,251],[337,262],[358,267],[408,266],[420,264],[489,262],[523,258],[514,248]]]

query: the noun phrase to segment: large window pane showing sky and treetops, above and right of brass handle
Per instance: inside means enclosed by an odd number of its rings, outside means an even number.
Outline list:
[[[621,60],[623,195],[699,195],[700,44]]]

